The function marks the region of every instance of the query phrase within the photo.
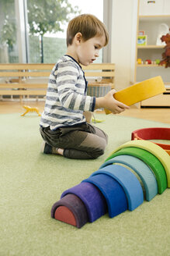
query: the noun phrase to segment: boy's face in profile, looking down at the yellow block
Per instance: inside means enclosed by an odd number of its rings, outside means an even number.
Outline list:
[[[95,36],[87,41],[81,39],[77,48],[78,62],[88,66],[99,57],[99,50],[105,45],[105,36]]]

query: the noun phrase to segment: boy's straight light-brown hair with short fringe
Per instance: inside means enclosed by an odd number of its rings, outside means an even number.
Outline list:
[[[75,17],[68,23],[67,30],[67,46],[72,44],[75,34],[80,32],[84,41],[95,37],[105,35],[105,45],[108,44],[109,34],[106,30],[105,25],[91,14],[82,14]]]

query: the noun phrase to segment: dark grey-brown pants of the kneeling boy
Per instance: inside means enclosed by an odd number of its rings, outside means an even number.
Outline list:
[[[101,129],[89,123],[56,131],[40,127],[40,133],[50,146],[64,148],[64,157],[75,159],[98,158],[104,153],[108,138]]]

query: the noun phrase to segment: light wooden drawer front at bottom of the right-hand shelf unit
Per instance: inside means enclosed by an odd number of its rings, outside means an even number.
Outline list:
[[[170,107],[170,91],[165,94],[159,94],[147,100],[141,101],[141,106],[168,106]]]

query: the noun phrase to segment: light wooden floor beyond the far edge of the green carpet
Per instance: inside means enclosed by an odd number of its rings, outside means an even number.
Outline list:
[[[2,113],[23,113],[23,105],[39,108],[43,112],[44,101],[0,101],[0,114]],[[121,113],[120,116],[130,116],[140,119],[154,120],[170,124],[170,108],[137,108],[132,106],[129,110]]]

